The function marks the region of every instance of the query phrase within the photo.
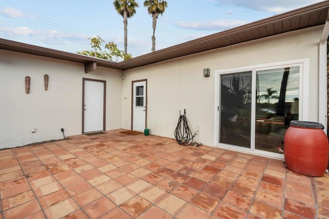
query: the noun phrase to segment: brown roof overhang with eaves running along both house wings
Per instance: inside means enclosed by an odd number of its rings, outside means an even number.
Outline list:
[[[326,21],[329,21],[328,8],[329,1],[320,2],[294,11],[272,16],[264,20],[252,22],[240,27],[211,34],[203,38],[188,41],[186,43],[160,49],[158,51],[144,54],[122,62],[112,62],[5,39],[0,39],[0,49],[24,52],[36,56],[44,56],[84,64],[96,62],[97,66],[127,70],[178,57],[188,56],[198,52],[204,52],[266,38],[268,36],[285,32],[324,25]]]

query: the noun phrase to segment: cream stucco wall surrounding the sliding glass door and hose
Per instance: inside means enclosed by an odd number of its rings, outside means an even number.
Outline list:
[[[213,145],[214,71],[242,66],[309,58],[309,120],[318,120],[318,45],[322,27],[285,33],[271,38],[194,54],[124,72],[122,127],[131,127],[132,81],[148,80],[147,127],[150,133],[174,138],[184,109],[192,132],[199,126],[197,141]],[[203,69],[210,68],[210,77]]]

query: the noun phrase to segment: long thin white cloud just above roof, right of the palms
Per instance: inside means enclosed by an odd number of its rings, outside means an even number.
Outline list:
[[[175,25],[183,29],[193,30],[216,30],[229,29],[249,23],[248,21],[240,20],[217,20],[207,22],[176,22]]]

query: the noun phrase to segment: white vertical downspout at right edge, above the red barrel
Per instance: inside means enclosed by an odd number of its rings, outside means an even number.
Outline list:
[[[327,133],[327,39],[329,35],[329,11],[319,42],[319,122]]]

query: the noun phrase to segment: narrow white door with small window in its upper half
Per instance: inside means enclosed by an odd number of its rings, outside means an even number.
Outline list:
[[[133,82],[133,130],[144,132],[146,124],[146,81]]]

